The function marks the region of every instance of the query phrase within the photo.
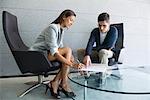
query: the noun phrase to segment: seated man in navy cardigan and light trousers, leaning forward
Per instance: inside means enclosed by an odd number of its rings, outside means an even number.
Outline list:
[[[108,13],[101,13],[98,16],[98,28],[92,30],[86,50],[83,63],[86,66],[91,64],[90,55],[95,49],[101,64],[108,65],[108,58],[113,56],[115,43],[118,38],[118,31],[115,27],[110,26]],[[93,48],[93,46],[95,46]]]

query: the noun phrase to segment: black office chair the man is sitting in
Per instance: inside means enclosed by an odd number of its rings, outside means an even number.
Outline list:
[[[112,58],[109,58],[109,66],[112,66],[114,64],[122,64],[122,62],[119,62],[119,55],[121,50],[124,48],[123,46],[123,42],[124,42],[124,31],[123,31],[123,23],[117,23],[117,24],[111,24],[111,26],[115,26],[118,30],[118,38],[115,44],[115,51],[114,51],[114,55]],[[83,60],[83,56],[85,54],[85,49],[78,49],[77,50],[77,56],[78,59],[80,61]],[[91,61],[92,63],[99,63],[99,57],[97,54],[97,51],[95,50],[95,48],[93,48],[92,50],[92,54],[91,54]]]

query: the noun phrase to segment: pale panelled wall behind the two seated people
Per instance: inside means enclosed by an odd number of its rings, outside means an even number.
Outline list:
[[[43,28],[67,8],[74,10],[77,18],[75,24],[66,30],[65,45],[74,51],[85,48],[91,30],[97,26],[98,14],[108,12],[112,23],[124,23],[125,49],[120,60],[127,65],[150,65],[149,0],[0,0],[0,14],[7,10],[18,17],[20,35],[28,46],[33,44]],[[0,23],[1,19],[0,16]],[[1,24],[0,71],[0,76],[19,73]]]

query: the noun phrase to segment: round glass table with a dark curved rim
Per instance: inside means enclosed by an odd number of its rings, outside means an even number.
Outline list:
[[[95,96],[100,99],[103,98],[102,96],[109,94],[111,94],[112,97],[108,100],[114,97],[115,99],[113,100],[127,100],[127,98],[128,100],[149,100],[150,67],[117,67],[118,69],[111,70],[112,73],[109,77],[103,78],[102,73],[91,73],[89,76],[71,73],[69,79],[74,84],[81,86],[84,90],[84,100],[91,100],[91,98]]]

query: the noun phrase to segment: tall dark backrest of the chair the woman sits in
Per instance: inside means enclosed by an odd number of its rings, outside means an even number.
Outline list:
[[[19,35],[17,17],[7,11],[3,11],[3,30],[11,51],[28,49]]]

